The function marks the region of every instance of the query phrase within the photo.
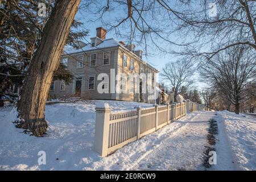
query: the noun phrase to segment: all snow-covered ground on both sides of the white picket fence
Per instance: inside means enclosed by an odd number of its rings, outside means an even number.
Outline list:
[[[256,118],[225,111],[200,111],[120,148],[107,158],[93,151],[96,102],[46,106],[48,131],[36,138],[12,123],[13,107],[0,109],[0,170],[256,170]],[[112,110],[150,107],[137,102],[104,101]],[[209,119],[218,123],[217,165],[203,166]],[[38,152],[46,165],[38,165]]]

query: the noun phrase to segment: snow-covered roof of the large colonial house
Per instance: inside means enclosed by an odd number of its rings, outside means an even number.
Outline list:
[[[84,52],[84,51],[93,51],[93,50],[97,50],[97,49],[117,47],[117,46],[122,47],[126,51],[129,51],[131,54],[138,57],[137,55],[135,55],[135,53],[131,52],[129,49],[127,49],[125,46],[123,46],[121,43],[119,43],[114,38],[105,39],[105,40],[103,40],[102,43],[98,44],[98,46],[94,46],[94,47],[92,47],[90,44],[87,44],[86,46],[84,46],[80,49],[73,49],[71,47],[65,47],[63,55],[69,55],[69,54],[73,54],[73,53],[80,53],[80,52]],[[141,60],[142,63],[146,64],[148,67],[154,69],[156,72],[159,72],[158,69],[152,67],[152,65],[146,63],[146,61],[143,61],[140,57],[138,57],[138,59]]]

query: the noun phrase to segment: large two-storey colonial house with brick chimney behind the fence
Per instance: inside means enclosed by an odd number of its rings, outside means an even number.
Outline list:
[[[108,75],[109,83],[111,75],[119,73],[129,75],[129,73],[152,73],[154,81],[156,73],[159,71],[152,67],[146,61],[142,60],[142,50],[135,50],[134,44],[125,45],[123,42],[110,38],[106,39],[106,30],[102,27],[96,28],[97,35],[90,38],[90,42],[79,42],[79,49],[65,49],[62,60],[67,65],[67,69],[72,73],[73,82],[65,84],[64,81],[56,80],[51,83],[49,94],[51,97],[77,96],[93,100],[122,100],[155,103],[155,100],[148,100],[146,94],[140,93],[113,93],[111,92],[113,84],[101,85],[107,89],[107,93],[97,92],[101,80],[97,79],[100,73]],[[126,80],[122,80],[126,81]],[[115,84],[117,81],[114,80]],[[139,80],[141,87],[142,80]],[[123,90],[130,89],[122,86]]]

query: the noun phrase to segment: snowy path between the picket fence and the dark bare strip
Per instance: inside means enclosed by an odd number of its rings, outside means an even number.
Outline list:
[[[182,129],[170,134],[133,169],[204,169],[202,161],[204,145],[207,143],[208,121],[214,116],[214,113],[202,113],[186,121]]]

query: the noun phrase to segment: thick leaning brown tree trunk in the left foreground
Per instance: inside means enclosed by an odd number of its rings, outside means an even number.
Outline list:
[[[18,102],[20,126],[30,130],[36,137],[42,136],[47,130],[44,109],[49,87],[80,1],[56,1],[24,80]]]

